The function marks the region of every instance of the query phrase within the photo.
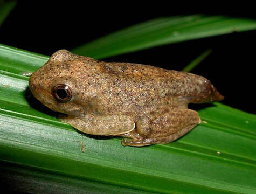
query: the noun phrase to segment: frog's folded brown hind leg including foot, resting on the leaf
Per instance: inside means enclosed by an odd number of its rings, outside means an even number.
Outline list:
[[[200,118],[195,110],[164,108],[162,113],[143,116],[136,123],[136,131],[143,138],[123,138],[122,145],[139,147],[169,143],[188,133],[198,123]]]

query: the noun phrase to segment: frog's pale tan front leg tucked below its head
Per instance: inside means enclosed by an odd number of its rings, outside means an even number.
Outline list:
[[[59,119],[84,133],[92,135],[119,135],[129,133],[135,128],[132,118],[126,115],[62,116]]]

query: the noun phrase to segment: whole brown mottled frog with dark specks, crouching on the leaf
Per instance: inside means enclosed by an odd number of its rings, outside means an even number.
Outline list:
[[[56,85],[68,86],[72,98],[58,100]],[[223,99],[210,81],[195,74],[107,63],[66,50],[34,72],[29,87],[45,106],[66,114],[61,121],[88,134],[128,137],[122,144],[131,146],[176,140],[200,123],[188,103]]]

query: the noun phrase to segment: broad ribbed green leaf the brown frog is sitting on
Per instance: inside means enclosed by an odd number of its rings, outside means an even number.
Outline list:
[[[83,136],[34,100],[23,72],[47,59],[0,46],[0,177],[12,190],[256,192],[255,115],[215,103],[199,110],[202,124],[178,141],[123,147],[121,138]]]

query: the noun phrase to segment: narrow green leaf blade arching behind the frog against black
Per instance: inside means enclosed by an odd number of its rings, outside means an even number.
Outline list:
[[[108,34],[72,52],[101,59],[154,46],[253,29],[256,29],[255,20],[244,18],[205,15],[157,18]]]

